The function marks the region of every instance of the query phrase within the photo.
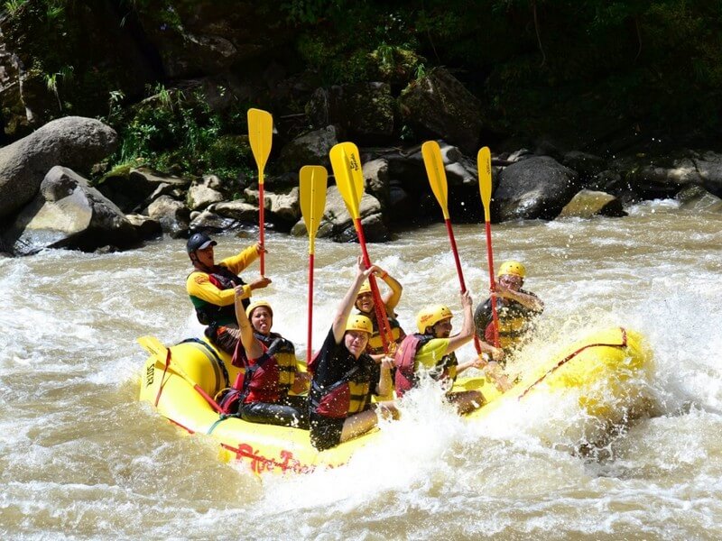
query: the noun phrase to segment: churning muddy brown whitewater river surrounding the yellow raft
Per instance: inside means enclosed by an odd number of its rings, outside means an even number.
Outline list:
[[[573,452],[586,420],[564,396],[474,424],[420,403],[343,468],[259,479],[137,401],[136,337],[172,344],[200,331],[183,241],[0,260],[0,536],[722,537],[722,215],[671,201],[628,211],[494,228],[497,264],[524,261],[525,287],[547,306],[527,362],[604,326],[636,329],[653,349],[653,416],[586,455]],[[488,287],[484,230],[455,231],[476,301]],[[217,258],[251,240],[219,236]],[[274,329],[305,353],[307,240],[269,234],[267,243]],[[319,241],[316,252],[318,346],[358,246]],[[426,302],[458,312],[443,225],[369,252],[405,287],[408,331]]]

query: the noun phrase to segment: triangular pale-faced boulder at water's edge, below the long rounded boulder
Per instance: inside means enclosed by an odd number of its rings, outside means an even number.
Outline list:
[[[40,192],[5,236],[5,243],[19,255],[42,248],[125,248],[137,240],[134,225],[116,205],[79,174],[60,166],[48,171]]]

